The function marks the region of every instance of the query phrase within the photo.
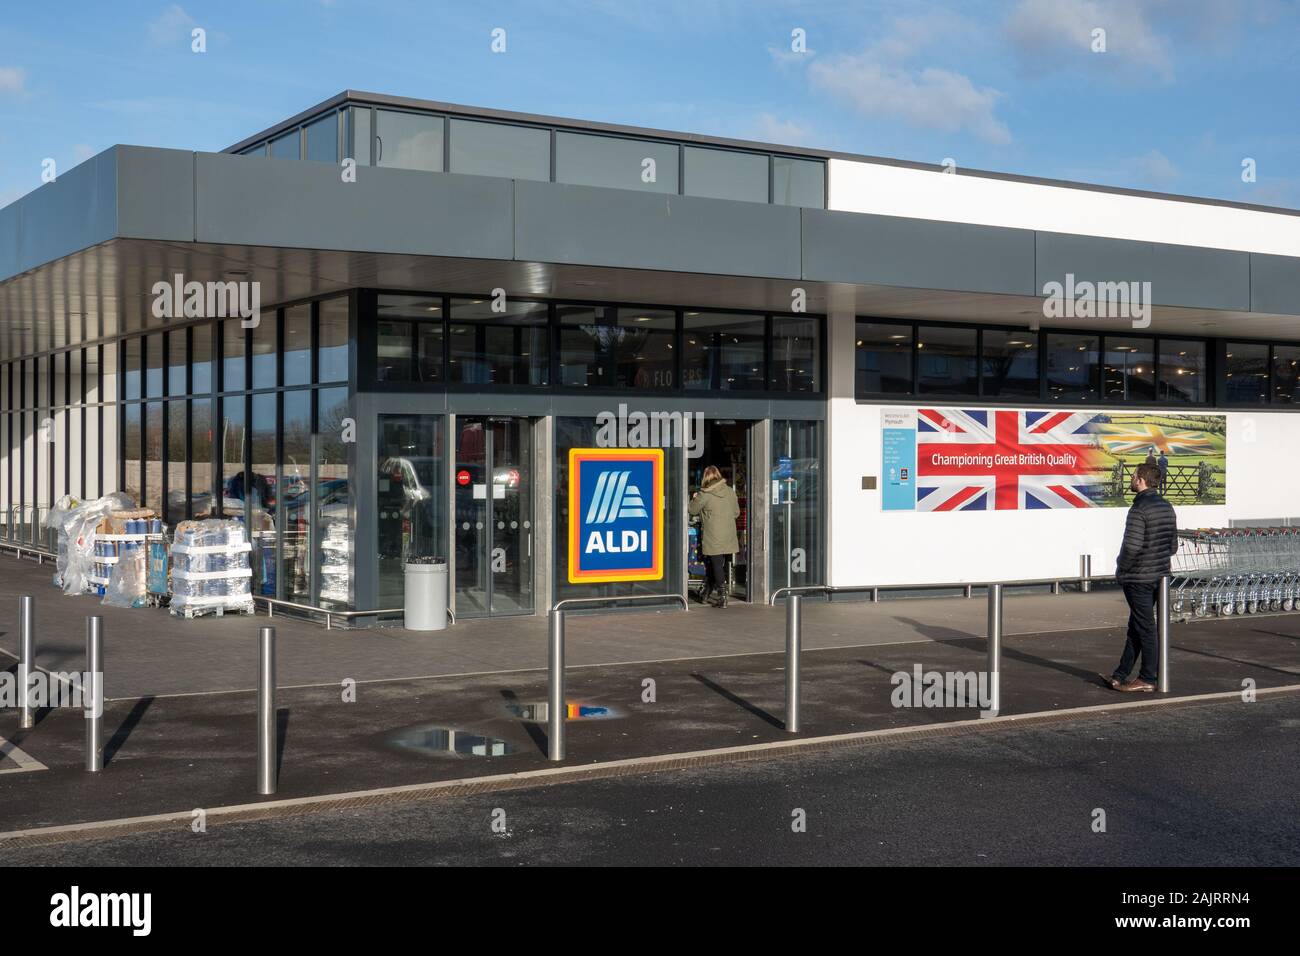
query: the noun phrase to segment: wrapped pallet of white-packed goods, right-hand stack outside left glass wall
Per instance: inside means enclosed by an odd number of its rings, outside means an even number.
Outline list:
[[[243,522],[181,522],[172,541],[172,614],[252,614],[252,544]]]

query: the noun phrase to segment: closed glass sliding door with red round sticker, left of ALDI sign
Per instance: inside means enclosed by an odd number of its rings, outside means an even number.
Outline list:
[[[456,615],[533,611],[533,431],[528,419],[456,416]]]

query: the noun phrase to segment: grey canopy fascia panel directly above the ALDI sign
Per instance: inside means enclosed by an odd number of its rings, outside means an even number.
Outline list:
[[[800,211],[632,190],[515,185],[515,258],[798,278]]]

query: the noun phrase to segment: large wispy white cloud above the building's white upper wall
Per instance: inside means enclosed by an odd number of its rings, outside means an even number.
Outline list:
[[[1001,92],[978,87],[954,70],[909,62],[926,47],[967,27],[957,18],[896,20],[889,33],[863,52],[822,59],[809,73],[814,86],[863,116],[898,118],[945,133],[970,130],[988,142],[1008,143],[1011,133],[994,114]]]

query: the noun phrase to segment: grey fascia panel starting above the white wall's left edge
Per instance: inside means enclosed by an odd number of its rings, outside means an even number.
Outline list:
[[[1034,233],[803,209],[803,277],[820,282],[1032,295]]]

